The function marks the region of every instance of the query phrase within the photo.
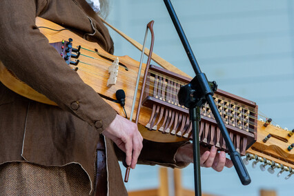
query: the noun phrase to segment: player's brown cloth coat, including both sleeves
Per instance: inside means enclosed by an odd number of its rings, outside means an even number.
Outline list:
[[[115,118],[116,112],[59,57],[35,26],[35,17],[75,30],[84,39],[97,41],[104,50],[113,52],[107,28],[84,0],[1,1],[0,60],[19,79],[59,107],[21,97],[0,83],[0,164],[8,161],[29,161],[43,166],[77,163],[94,186],[93,165],[99,134]],[[79,106],[72,106],[76,101]],[[139,163],[186,166],[174,160],[182,144],[144,141]],[[109,194],[126,195],[117,162],[121,153],[109,139],[106,139],[106,149]]]

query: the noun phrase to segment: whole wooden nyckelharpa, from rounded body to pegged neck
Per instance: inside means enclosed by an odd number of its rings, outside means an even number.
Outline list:
[[[97,43],[86,41],[85,39],[82,39],[78,35],[75,35],[75,33],[70,32],[69,30],[61,30],[63,29],[61,26],[57,25],[56,23],[52,23],[50,21],[47,21],[45,19],[36,18],[36,24],[37,26],[46,26],[47,28],[40,28],[40,31],[45,35],[49,41],[49,43],[55,43],[64,40],[67,40],[68,38],[72,38],[72,46],[82,46],[81,49],[81,56],[79,57],[80,63],[78,64],[79,70],[77,70],[77,73],[79,74],[79,77],[83,79],[83,81],[91,86],[96,92],[98,92],[104,99],[114,108],[119,115],[124,116],[124,112],[121,108],[121,106],[112,100],[116,99],[115,92],[119,89],[124,89],[126,93],[126,112],[127,115],[130,116],[130,108],[132,106],[134,92],[135,92],[135,81],[137,79],[137,72],[139,68],[139,62],[135,61],[134,59],[131,59],[128,56],[119,57],[119,62],[124,64],[128,68],[124,68],[123,66],[119,66],[118,68],[118,75],[117,75],[117,83],[111,87],[107,87],[107,81],[110,77],[108,68],[110,67],[112,61],[116,59],[116,56],[108,54],[108,52],[104,51]],[[61,31],[54,31],[50,30],[48,28],[52,28],[55,30],[61,30]],[[97,52],[98,51],[99,54]],[[108,59],[112,59],[112,61],[106,60],[102,58],[101,56],[106,56]],[[93,58],[90,58],[93,57]],[[86,62],[86,63],[83,63]],[[75,68],[76,66],[70,65],[72,68]],[[141,72],[144,72],[145,65],[142,68]],[[188,83],[190,81],[190,78],[188,77],[182,77],[181,75],[177,75],[174,72],[170,71],[163,71],[162,68],[155,68],[154,66],[151,66],[151,70],[153,69],[161,72],[161,78],[164,78],[164,82],[168,82],[168,79],[165,77],[172,77],[174,80],[181,80],[183,82],[183,85]],[[75,71],[75,70],[72,70]],[[152,141],[161,141],[161,142],[175,142],[175,141],[183,141],[191,139],[190,133],[184,137],[184,133],[181,133],[179,135],[179,132],[174,133],[171,135],[170,133],[160,132],[157,130],[153,130],[152,127],[146,128],[146,124],[150,121],[150,116],[153,113],[153,106],[157,107],[160,106],[161,108],[173,108],[176,112],[182,113],[182,116],[187,115],[187,109],[183,106],[177,106],[177,104],[174,104],[175,106],[171,106],[170,102],[169,104],[165,104],[164,101],[166,97],[158,97],[157,95],[154,95],[150,92],[155,92],[155,79],[153,78],[153,81],[151,81],[152,73],[149,73],[149,79],[148,84],[146,88],[149,88],[144,92],[144,103],[141,107],[141,112],[139,115],[139,130],[141,132],[141,135],[145,139],[149,139]],[[166,75],[163,77],[162,75]],[[141,74],[140,80],[144,76]],[[3,63],[0,61],[0,80],[1,82],[6,85],[8,88],[13,90],[14,92],[17,92],[19,95],[23,95],[24,97],[27,97],[29,99],[42,102],[44,104],[51,104],[56,105],[53,101],[50,101],[47,97],[44,95],[41,95],[39,92],[33,90],[30,88],[30,86],[23,83],[23,81],[20,81],[17,79],[17,77],[14,76],[10,70],[8,70]],[[152,86],[152,85],[153,86]],[[139,85],[141,86],[141,84]],[[164,86],[164,85],[162,85]],[[137,92],[136,97],[136,103],[139,100],[139,91]],[[164,92],[167,93],[167,92]],[[168,92],[170,93],[170,92]],[[173,94],[176,95],[177,92],[173,91]],[[149,96],[149,98],[147,98]],[[150,98],[151,97],[151,98]],[[150,101],[150,99],[157,99],[157,101]],[[226,120],[226,127],[228,128],[230,132],[231,139],[234,141],[235,146],[242,146],[240,149],[242,152],[242,155],[244,155],[244,152],[247,148],[249,148],[253,143],[253,146],[246,150],[246,156],[248,157],[248,154],[254,155],[255,159],[256,157],[262,157],[260,161],[264,161],[265,159],[275,161],[275,163],[283,164],[284,166],[287,166],[288,168],[291,168],[291,174],[293,173],[292,168],[294,167],[294,151],[287,150],[288,146],[294,143],[294,137],[288,136],[288,131],[282,130],[281,128],[277,128],[275,126],[268,125],[268,127],[264,127],[264,122],[257,121],[257,106],[254,102],[249,101],[247,99],[243,99],[242,97],[237,97],[235,95],[232,95],[231,93],[224,92],[223,90],[217,90],[215,92],[215,103],[217,104],[217,107],[219,108],[219,111],[221,112],[221,115],[223,119]],[[155,100],[153,99],[153,100]],[[219,101],[221,100],[221,101]],[[155,103],[156,102],[156,103]],[[154,104],[155,103],[155,104]],[[226,116],[228,116],[228,106],[229,110],[234,110],[236,112],[236,115],[234,117],[231,115],[226,119]],[[233,108],[235,106],[236,108]],[[232,109],[233,108],[233,109]],[[246,117],[245,113],[248,112],[248,117],[251,118],[249,122],[250,126],[246,128],[244,126],[244,123],[242,124],[242,128],[238,128],[236,122],[239,120],[237,117],[238,110],[237,108],[243,108],[240,110],[239,113],[242,113],[242,117]],[[135,105],[135,111],[137,110],[137,104]],[[215,124],[215,121],[213,117],[211,117],[210,112],[208,111],[208,106],[204,106],[202,108],[202,122],[200,125],[200,134],[199,139],[202,142],[202,144],[212,146],[212,145],[219,145],[217,146],[220,150],[226,150],[226,145],[224,144],[224,141],[217,144],[217,138],[219,136],[219,130],[217,130],[217,126]],[[246,112],[245,112],[246,111]],[[169,112],[170,113],[170,112]],[[230,112],[229,112],[230,113]],[[232,112],[231,112],[232,114]],[[155,121],[158,121],[159,117],[153,117],[153,124]],[[133,120],[135,119],[135,115],[133,116]],[[234,119],[234,120],[232,120]],[[231,120],[231,121],[230,121]],[[164,124],[164,118],[162,118],[159,121],[160,124]],[[186,119],[188,121],[188,119]],[[183,126],[184,127],[184,126]],[[240,126],[241,127],[241,126]],[[187,129],[188,130],[188,129]],[[163,134],[165,133],[165,134]],[[264,143],[262,140],[266,135],[268,134],[274,135],[275,137],[271,137],[266,143]],[[177,135],[177,136],[175,136]],[[214,135],[214,136],[213,136]],[[244,139],[246,138],[246,145],[244,143]],[[257,141],[256,141],[257,140]],[[256,141],[256,142],[255,142]],[[239,144],[238,144],[239,142]],[[240,143],[241,142],[241,143]],[[244,146],[245,145],[245,146]],[[282,168],[282,167],[281,167]]]

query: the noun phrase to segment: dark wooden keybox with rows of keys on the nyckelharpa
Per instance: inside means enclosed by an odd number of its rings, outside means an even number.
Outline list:
[[[151,65],[148,69],[148,81],[144,89],[143,106],[152,108],[146,127],[153,132],[165,133],[192,139],[192,127],[188,108],[181,106],[177,99],[180,86],[190,79]],[[242,97],[217,90],[213,96],[235,148],[241,155],[246,154],[257,138],[257,105]],[[228,152],[208,104],[202,106],[202,121],[199,125],[199,141],[204,146],[217,146]]]

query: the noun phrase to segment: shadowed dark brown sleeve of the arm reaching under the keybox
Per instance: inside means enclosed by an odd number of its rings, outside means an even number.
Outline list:
[[[161,143],[144,139],[143,148],[138,158],[138,164],[146,165],[160,165],[170,168],[184,168],[190,163],[175,161],[175,153],[177,149],[189,141]],[[115,144],[114,144],[115,145]],[[115,151],[117,158],[121,161],[124,159],[124,152],[122,152],[116,145]]]

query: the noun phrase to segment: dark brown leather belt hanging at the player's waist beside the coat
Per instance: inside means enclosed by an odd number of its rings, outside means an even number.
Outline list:
[[[107,170],[106,170],[106,149],[104,136],[100,135],[97,144],[97,164],[96,164],[96,196],[107,195]]]

